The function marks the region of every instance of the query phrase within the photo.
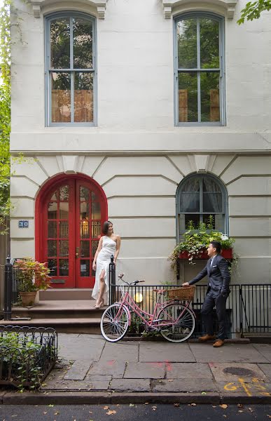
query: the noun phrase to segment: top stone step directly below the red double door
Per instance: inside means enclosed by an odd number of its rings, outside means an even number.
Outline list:
[[[48,288],[39,291],[39,299],[46,300],[92,300],[92,288]]]

